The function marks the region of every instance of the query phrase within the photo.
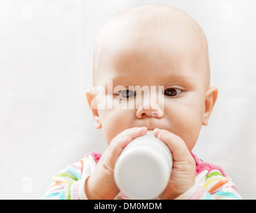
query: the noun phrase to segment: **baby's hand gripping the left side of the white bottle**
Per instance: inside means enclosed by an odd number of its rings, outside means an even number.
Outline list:
[[[146,127],[124,130],[111,140],[107,150],[101,156],[93,174],[85,182],[85,194],[88,199],[112,200],[119,193],[114,180],[114,167],[123,148],[134,138],[147,133]]]

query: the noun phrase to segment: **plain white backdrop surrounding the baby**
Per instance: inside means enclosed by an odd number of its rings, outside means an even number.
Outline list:
[[[203,27],[219,99],[195,154],[256,198],[256,3],[251,0],[1,0],[0,198],[39,199],[51,177],[107,147],[85,93],[93,41],[115,13],[157,3]]]

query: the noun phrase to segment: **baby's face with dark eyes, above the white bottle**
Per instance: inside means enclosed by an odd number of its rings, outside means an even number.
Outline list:
[[[127,128],[146,126],[177,134],[192,150],[204,122],[209,85],[198,38],[184,34],[179,27],[171,33],[130,29],[106,39],[97,57],[96,85],[105,88],[101,101],[107,100],[109,108],[98,103],[94,115],[107,144]]]

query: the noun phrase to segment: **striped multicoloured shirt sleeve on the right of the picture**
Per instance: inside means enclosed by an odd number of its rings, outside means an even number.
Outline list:
[[[203,176],[203,173],[206,175]],[[203,176],[203,177],[202,177]],[[237,187],[229,177],[223,176],[219,170],[203,171],[195,180],[195,184],[177,200],[241,200]]]

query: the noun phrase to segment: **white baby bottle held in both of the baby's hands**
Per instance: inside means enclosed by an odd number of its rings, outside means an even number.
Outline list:
[[[121,194],[128,198],[154,199],[165,190],[172,166],[169,148],[149,131],[123,149],[114,178]]]

